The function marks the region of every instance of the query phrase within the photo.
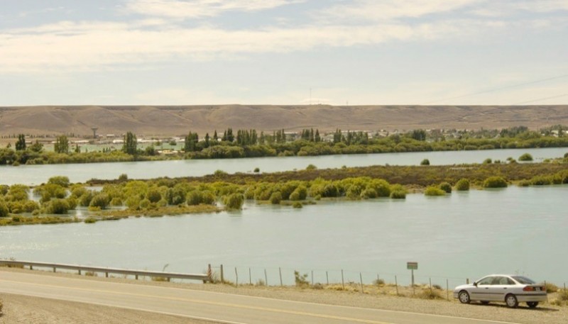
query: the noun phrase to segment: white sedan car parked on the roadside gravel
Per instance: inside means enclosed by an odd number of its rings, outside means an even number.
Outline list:
[[[536,284],[525,276],[491,274],[472,284],[457,286],[454,298],[461,303],[501,301],[512,308],[519,303],[527,303],[530,308],[535,308],[540,301],[547,300],[547,291],[545,284]]]

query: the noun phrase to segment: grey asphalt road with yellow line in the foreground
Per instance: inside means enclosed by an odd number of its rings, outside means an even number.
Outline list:
[[[0,291],[150,311],[217,323],[506,323],[17,272],[0,272]]]

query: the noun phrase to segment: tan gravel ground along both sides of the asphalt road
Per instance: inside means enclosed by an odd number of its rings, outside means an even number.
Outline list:
[[[1,272],[29,272],[26,269],[0,268]],[[497,320],[508,323],[567,323],[568,307],[554,306],[542,303],[536,309],[529,309],[525,305],[510,309],[499,303],[488,306],[472,303],[462,305],[452,299],[428,300],[411,298],[408,288],[399,287],[400,294],[407,296],[393,296],[391,286],[366,287],[365,294],[361,294],[357,286],[346,286],[345,290],[330,286],[328,289],[301,289],[295,286],[231,286],[224,284],[188,284],[161,281],[135,281],[124,278],[101,278],[96,276],[79,276],[70,273],[57,273],[33,271],[34,274],[45,276],[68,276],[75,279],[114,281],[126,284],[145,284],[155,286],[169,286],[183,289],[212,291],[224,294],[239,294],[258,296],[263,298],[285,299],[290,301],[305,301],[311,303],[325,303],[331,305],[354,306],[362,308],[378,308],[390,311],[405,311],[414,313],[427,313],[435,315],[459,316],[465,318],[479,318],[484,320]],[[445,298],[445,291],[440,295]],[[552,297],[550,297],[552,298]],[[155,314],[143,311],[132,311],[123,308],[89,305],[68,301],[57,301],[46,298],[0,294],[4,303],[4,315],[0,317],[0,324],[8,323],[207,323],[199,320],[178,318],[175,316]]]

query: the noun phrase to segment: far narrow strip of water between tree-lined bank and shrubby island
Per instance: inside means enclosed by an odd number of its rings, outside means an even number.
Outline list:
[[[507,157],[515,160],[530,153],[536,161],[563,157],[568,147],[518,149],[518,150],[481,150],[457,152],[409,152],[383,153],[368,155],[327,155],[320,157],[261,157],[226,160],[176,160],[155,162],[116,162],[96,164],[50,164],[22,165],[20,167],[1,166],[0,184],[41,184],[50,177],[65,175],[72,182],[84,182],[89,179],[116,179],[120,174],[128,174],[130,179],[151,179],[157,177],[192,177],[212,174],[218,169],[225,172],[252,172],[258,167],[261,172],[278,172],[293,169],[305,169],[314,164],[320,169],[347,167],[365,167],[369,165],[418,165],[423,159],[432,165],[481,163],[486,158],[504,161]]]

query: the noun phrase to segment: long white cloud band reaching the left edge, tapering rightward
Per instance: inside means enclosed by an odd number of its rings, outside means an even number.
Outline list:
[[[147,23],[147,22],[146,22]],[[303,26],[262,30],[140,28],[133,24],[70,21],[0,32],[0,71],[93,69],[101,65],[211,60],[240,53],[349,47],[388,40],[435,38],[448,26]]]

